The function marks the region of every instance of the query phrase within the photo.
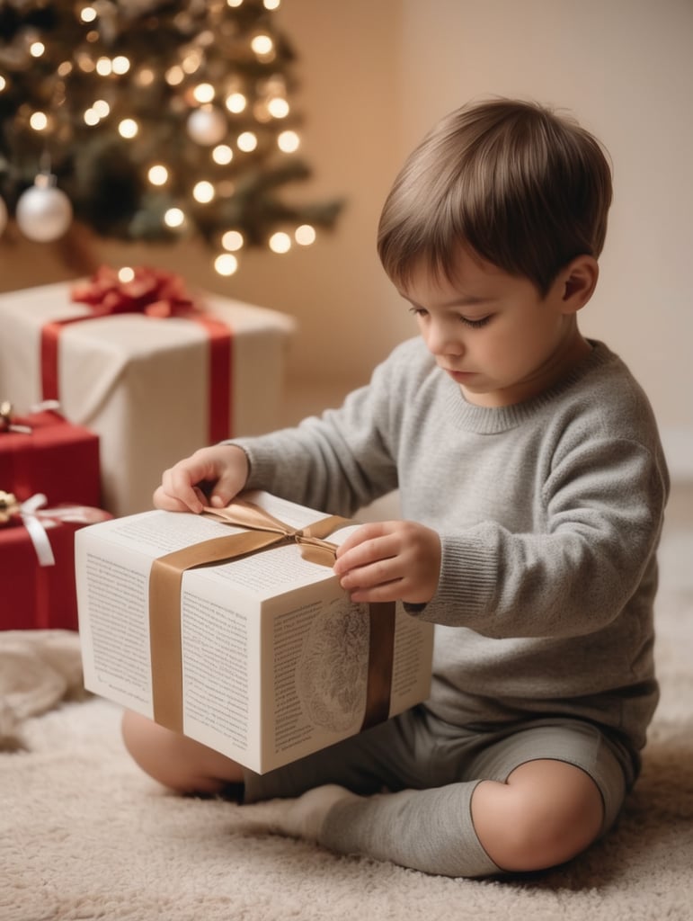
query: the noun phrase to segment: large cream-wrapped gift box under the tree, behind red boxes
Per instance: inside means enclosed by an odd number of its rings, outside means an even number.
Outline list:
[[[88,317],[70,283],[0,295],[0,397],[17,414],[40,402],[41,329]],[[203,294],[202,309],[232,333],[231,434],[257,435],[280,422],[293,318]],[[65,418],[100,439],[102,505],[113,515],[152,507],[161,473],[209,443],[208,334],[187,319],[118,314],[60,332],[58,396]]]

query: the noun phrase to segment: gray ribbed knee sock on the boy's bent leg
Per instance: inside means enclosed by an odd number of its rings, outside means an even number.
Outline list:
[[[476,783],[344,799],[325,817],[318,840],[341,854],[391,860],[440,876],[502,872],[479,843],[471,820]]]

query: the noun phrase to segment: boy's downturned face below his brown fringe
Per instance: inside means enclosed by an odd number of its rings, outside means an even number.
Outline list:
[[[422,268],[400,293],[468,402],[509,406],[545,391],[589,352],[566,291],[560,274],[541,297],[528,279],[463,250],[455,283]]]

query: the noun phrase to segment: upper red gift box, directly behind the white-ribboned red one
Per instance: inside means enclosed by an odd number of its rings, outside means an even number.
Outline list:
[[[101,505],[98,435],[52,411],[13,418],[12,423],[31,431],[0,431],[0,488],[19,502],[44,493],[52,504]]]

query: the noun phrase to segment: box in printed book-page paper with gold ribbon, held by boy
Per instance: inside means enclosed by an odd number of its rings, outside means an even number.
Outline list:
[[[332,564],[353,526],[253,492],[78,530],[87,689],[260,774],[421,703],[433,624],[352,603]]]

